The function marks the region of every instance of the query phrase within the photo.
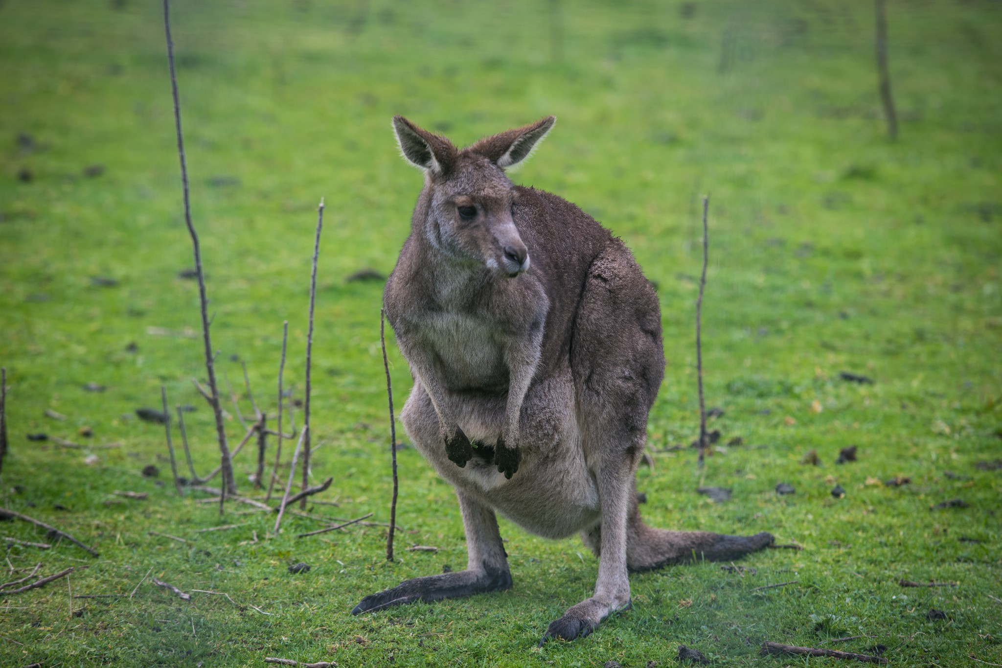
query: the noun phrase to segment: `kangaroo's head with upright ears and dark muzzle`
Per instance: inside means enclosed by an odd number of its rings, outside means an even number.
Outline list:
[[[556,118],[485,137],[463,150],[403,116],[393,127],[404,157],[425,171],[415,223],[442,253],[515,277],[529,251],[512,220],[518,193],[504,170],[527,158]]]

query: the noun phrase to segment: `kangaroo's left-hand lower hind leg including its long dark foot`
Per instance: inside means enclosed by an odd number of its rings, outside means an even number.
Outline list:
[[[365,597],[352,610],[353,615],[418,600],[427,603],[511,588],[508,555],[501,543],[494,511],[458,490],[456,494],[466,530],[469,556],[466,570],[407,580],[392,589]]]

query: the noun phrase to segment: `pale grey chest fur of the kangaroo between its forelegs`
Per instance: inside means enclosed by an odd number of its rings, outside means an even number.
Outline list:
[[[435,355],[440,380],[452,392],[508,390],[508,367],[498,328],[476,313],[442,310],[425,321],[424,340]]]

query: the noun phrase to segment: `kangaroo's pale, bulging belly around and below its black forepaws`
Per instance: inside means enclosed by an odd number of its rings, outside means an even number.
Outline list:
[[[452,408],[470,441],[486,450],[493,449],[501,433],[503,403],[503,398],[485,397]],[[541,424],[550,416],[560,422]],[[529,403],[521,427],[522,462],[511,480],[498,473],[489,453],[474,455],[463,468],[446,457],[438,417],[420,384],[415,384],[400,417],[439,475],[526,531],[565,538],[598,522],[598,486],[585,462],[573,410],[540,417],[533,415]]]

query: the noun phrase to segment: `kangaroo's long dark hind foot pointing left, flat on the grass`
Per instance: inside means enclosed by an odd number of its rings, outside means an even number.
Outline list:
[[[503,591],[511,588],[511,573],[508,569],[496,570],[485,567],[476,571],[443,573],[424,578],[407,580],[392,589],[367,596],[352,610],[353,615],[376,612],[395,605],[414,601],[438,601],[474,594]]]

